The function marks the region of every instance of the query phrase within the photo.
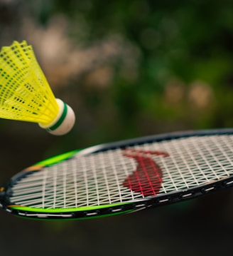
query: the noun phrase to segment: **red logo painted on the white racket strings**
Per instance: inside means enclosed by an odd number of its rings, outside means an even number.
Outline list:
[[[157,195],[163,182],[163,172],[151,155],[167,157],[168,153],[126,148],[122,154],[137,163],[136,170],[124,180],[123,186],[144,196]]]

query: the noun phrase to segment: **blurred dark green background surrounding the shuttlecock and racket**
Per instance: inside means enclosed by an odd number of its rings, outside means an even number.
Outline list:
[[[68,135],[0,121],[4,183],[76,148],[233,126],[233,2],[0,0],[0,46],[26,40],[77,116]],[[1,255],[229,255],[232,193],[106,219],[36,222],[1,211]],[[174,221],[175,220],[175,221]]]

